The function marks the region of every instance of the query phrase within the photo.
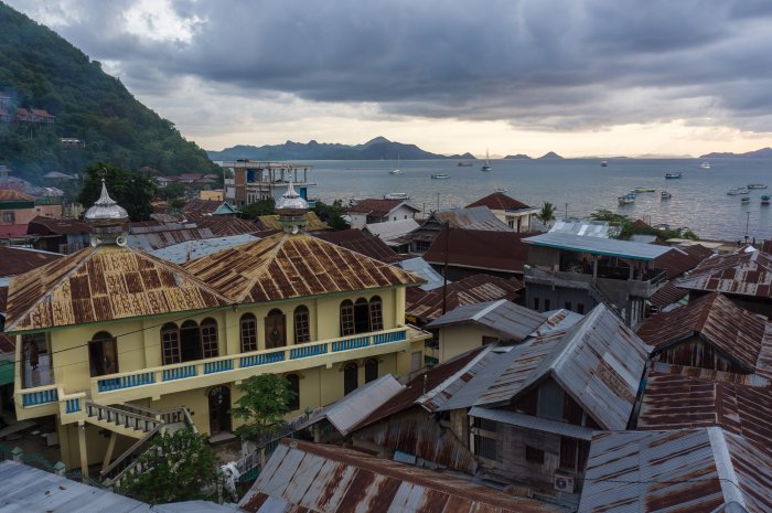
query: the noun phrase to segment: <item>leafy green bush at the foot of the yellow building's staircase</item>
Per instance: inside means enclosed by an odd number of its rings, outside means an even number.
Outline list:
[[[149,469],[124,479],[120,493],[150,504],[214,500],[221,480],[206,436],[185,428],[153,439],[159,451],[140,461]]]

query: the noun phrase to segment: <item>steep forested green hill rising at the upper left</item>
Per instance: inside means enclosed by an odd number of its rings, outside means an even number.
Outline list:
[[[98,62],[0,3],[0,165],[40,182],[50,171],[81,172],[94,161],[161,174],[215,169]]]

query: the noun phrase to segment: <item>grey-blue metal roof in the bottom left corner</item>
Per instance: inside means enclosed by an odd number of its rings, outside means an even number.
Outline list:
[[[71,481],[40,469],[0,463],[0,513],[141,513],[150,504]]]

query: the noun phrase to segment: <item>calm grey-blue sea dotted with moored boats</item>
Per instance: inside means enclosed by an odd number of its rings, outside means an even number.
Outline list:
[[[650,224],[687,226],[701,238],[735,241],[746,235],[772,238],[772,206],[761,206],[761,194],[772,194],[772,161],[714,159],[711,168],[700,169],[694,159],[610,159],[607,168],[598,159],[494,160],[493,170],[480,171],[482,161],[460,168],[452,160],[415,160],[400,163],[401,174],[388,171],[395,161],[312,161],[310,179],[318,185],[310,195],[330,202],[353,197],[382,197],[405,192],[410,202],[427,213],[431,210],[464,206],[498,189],[532,206],[548,201],[559,217],[583,217],[599,209],[642,218]],[[665,180],[666,172],[683,173],[680,180]],[[433,173],[450,174],[432,180]],[[729,189],[751,183],[770,185],[751,190],[750,203],[741,195],[727,195]],[[620,206],[616,197],[631,189],[650,188],[635,204]],[[667,190],[671,200],[660,193]]]

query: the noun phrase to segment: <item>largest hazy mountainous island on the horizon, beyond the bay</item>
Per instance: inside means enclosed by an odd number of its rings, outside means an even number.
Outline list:
[[[376,137],[364,145],[287,141],[283,145],[234,146],[222,151],[207,151],[212,160],[474,160],[472,153],[444,156],[423,151],[416,145]]]

